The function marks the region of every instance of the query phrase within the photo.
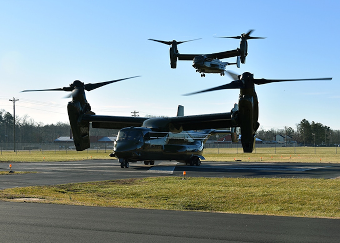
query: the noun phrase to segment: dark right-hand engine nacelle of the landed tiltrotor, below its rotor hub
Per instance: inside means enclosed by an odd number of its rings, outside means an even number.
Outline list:
[[[241,128],[241,143],[243,152],[251,153],[255,148],[256,134],[254,131],[254,99],[253,96],[244,95],[240,97],[239,125]]]

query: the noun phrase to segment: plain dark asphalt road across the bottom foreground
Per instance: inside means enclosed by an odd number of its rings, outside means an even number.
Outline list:
[[[0,202],[0,242],[339,242],[340,221]]]

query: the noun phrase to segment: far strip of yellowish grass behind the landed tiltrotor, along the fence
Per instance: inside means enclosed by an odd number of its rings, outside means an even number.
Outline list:
[[[339,151],[338,151],[339,150]],[[0,162],[53,162],[91,159],[114,159],[106,150],[44,150],[44,151],[2,151]],[[252,153],[243,153],[241,148],[206,148],[203,156],[208,161],[242,162],[304,162],[304,163],[340,163],[340,148],[335,147],[280,147],[256,148]]]

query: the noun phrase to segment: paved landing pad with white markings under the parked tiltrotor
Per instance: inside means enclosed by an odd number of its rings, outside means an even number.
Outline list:
[[[203,162],[201,166],[189,166],[177,162],[158,161],[155,166],[130,163],[130,168],[120,168],[120,164],[112,160],[11,164],[14,172],[35,171],[39,173],[1,176],[0,189],[148,176],[182,176],[183,171],[186,171],[187,177],[311,177],[329,179],[340,176],[340,164],[321,163]],[[0,163],[0,170],[6,170],[8,166],[9,163]]]

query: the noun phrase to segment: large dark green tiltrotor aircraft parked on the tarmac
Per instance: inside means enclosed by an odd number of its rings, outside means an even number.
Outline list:
[[[91,91],[106,84],[124,79],[88,83],[76,80],[69,87],[47,90],[27,91],[67,91],[71,92],[72,101],[67,110],[73,133],[74,145],[78,151],[90,147],[89,126],[93,128],[121,129],[114,144],[112,156],[118,158],[121,167],[129,167],[129,162],[144,161],[153,164],[155,160],[176,160],[191,165],[200,165],[203,159],[204,142],[212,133],[231,133],[232,140],[237,141],[235,128],[241,129],[241,143],[244,152],[252,152],[255,146],[258,123],[258,99],[254,84],[266,84],[281,81],[298,80],[329,80],[320,79],[290,79],[270,80],[254,79],[253,74],[244,72],[234,75],[234,81],[208,91],[239,88],[240,97],[231,112],[184,116],[180,107],[175,117],[126,117],[96,115],[91,111],[86,100],[85,90]],[[134,77],[132,77],[134,78]],[[129,78],[127,78],[129,79]],[[226,129],[230,130],[216,130]]]

